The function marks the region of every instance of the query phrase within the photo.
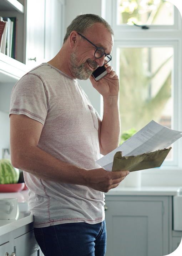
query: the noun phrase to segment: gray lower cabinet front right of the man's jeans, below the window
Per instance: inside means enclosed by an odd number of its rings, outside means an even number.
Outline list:
[[[163,204],[107,201],[106,256],[163,255]]]

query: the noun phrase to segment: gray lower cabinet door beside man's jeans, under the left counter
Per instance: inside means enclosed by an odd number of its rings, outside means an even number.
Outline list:
[[[17,256],[37,256],[40,250],[34,236],[34,231],[27,232],[22,236],[15,238]],[[39,254],[40,255],[40,254]]]

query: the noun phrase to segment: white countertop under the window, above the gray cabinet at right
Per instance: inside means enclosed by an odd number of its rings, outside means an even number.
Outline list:
[[[173,196],[180,187],[117,187],[105,195]]]

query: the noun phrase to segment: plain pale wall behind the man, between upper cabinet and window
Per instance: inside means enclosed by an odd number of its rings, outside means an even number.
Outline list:
[[[101,0],[66,0],[65,6],[65,32],[67,26],[70,25],[72,20],[80,13],[87,14],[93,13],[101,16]],[[79,81],[80,86],[84,89],[89,97],[93,107],[100,112],[100,94],[92,87],[90,80]]]

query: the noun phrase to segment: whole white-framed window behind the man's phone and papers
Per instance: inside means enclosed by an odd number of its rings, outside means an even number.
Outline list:
[[[132,3],[137,8],[124,8]],[[121,133],[131,128],[139,131],[152,119],[182,131],[181,4],[182,1],[103,0],[102,16],[115,32],[111,65],[120,77]],[[130,25],[132,21],[141,27]],[[166,174],[168,179],[177,175],[179,180],[181,155],[179,139],[159,169],[143,171],[142,175],[160,174],[161,179]]]

